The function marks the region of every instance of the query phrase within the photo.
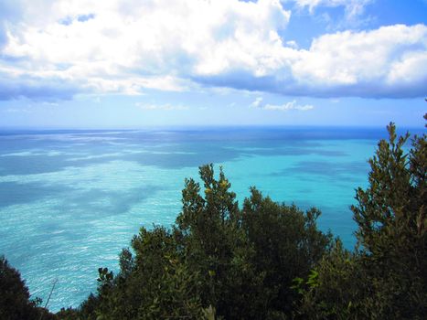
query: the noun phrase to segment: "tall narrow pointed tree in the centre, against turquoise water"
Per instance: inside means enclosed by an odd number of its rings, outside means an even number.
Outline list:
[[[251,314],[259,293],[260,278],[251,265],[254,254],[241,229],[241,212],[230,182],[219,170],[215,178],[213,165],[199,168],[200,185],[186,180],[183,210],[176,219],[182,235],[181,244],[187,264],[200,275],[202,304],[215,306],[226,319]]]

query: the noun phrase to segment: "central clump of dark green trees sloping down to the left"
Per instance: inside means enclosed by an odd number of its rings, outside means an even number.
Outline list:
[[[172,229],[140,230],[121,270],[99,270],[98,294],[74,319],[284,319],[291,315],[294,277],[304,277],[326,252],[320,212],[304,213],[262,197],[239,208],[222,169],[200,167],[186,180],[183,209]]]

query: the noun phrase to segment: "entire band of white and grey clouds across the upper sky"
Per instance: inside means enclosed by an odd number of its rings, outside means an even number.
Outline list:
[[[351,15],[368,3],[295,1],[310,10],[345,5]],[[33,98],[44,88],[60,99],[60,91],[69,98],[200,86],[328,98],[425,94],[424,25],[336,32],[303,49],[280,36],[291,12],[279,0],[19,4],[19,23],[0,24],[3,99]]]

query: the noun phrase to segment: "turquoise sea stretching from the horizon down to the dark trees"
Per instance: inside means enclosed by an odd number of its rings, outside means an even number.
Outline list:
[[[101,266],[141,226],[174,223],[184,179],[223,165],[241,200],[256,186],[355,243],[349,206],[367,184],[383,129],[211,128],[124,132],[1,132],[0,254],[33,296],[57,311],[96,290]]]

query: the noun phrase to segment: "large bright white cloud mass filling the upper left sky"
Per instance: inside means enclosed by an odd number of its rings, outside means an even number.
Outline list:
[[[23,16],[22,25],[8,30],[2,52],[25,61],[12,72],[132,94],[142,88],[182,91],[193,74],[230,66],[266,72],[273,55],[253,48],[280,48],[277,31],[290,12],[279,0],[59,0],[29,2]]]

